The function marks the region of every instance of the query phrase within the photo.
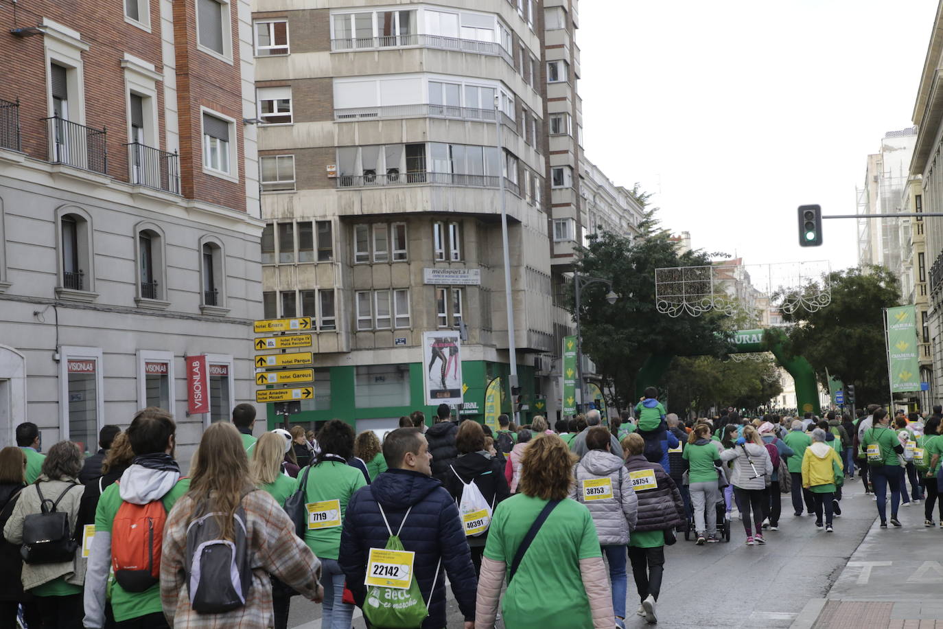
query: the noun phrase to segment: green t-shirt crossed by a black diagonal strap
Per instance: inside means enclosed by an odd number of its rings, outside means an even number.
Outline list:
[[[510,566],[546,504],[519,493],[495,507],[485,556]],[[502,605],[505,626],[591,629],[580,559],[598,556],[602,552],[589,509],[575,500],[563,500],[540,527],[507,587]],[[548,583],[554,588],[547,588]]]

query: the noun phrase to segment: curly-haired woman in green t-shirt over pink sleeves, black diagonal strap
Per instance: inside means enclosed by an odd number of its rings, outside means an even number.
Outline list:
[[[491,519],[478,581],[476,626],[494,626],[505,575],[505,627],[614,625],[596,526],[586,505],[566,500],[575,463],[576,456],[555,435],[535,439],[524,451],[521,493],[498,505]]]

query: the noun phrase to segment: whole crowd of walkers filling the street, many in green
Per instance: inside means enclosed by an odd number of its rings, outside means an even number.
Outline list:
[[[926,421],[869,406],[681,422],[656,395],[636,417],[501,415],[496,431],[441,405],[382,439],[340,420],[256,438],[238,405],[189,475],[159,408],[105,426],[88,457],[71,441],[41,454],[21,423],[0,450],[0,629],[285,629],[294,596],[322,604],[325,628],[359,607],[369,627],[440,629],[447,583],[466,629],[624,627],[630,569],[637,615],[657,622],[678,533],[717,542],[738,517],[748,545],[768,543],[786,494],[833,533],[855,472],[882,527],[921,501],[943,527],[938,406]]]

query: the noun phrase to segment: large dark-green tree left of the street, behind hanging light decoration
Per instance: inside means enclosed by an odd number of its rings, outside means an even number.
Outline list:
[[[647,198],[640,192],[636,196]],[[604,298],[608,291],[604,284],[588,286],[580,312],[583,352],[603,373],[604,386],[614,391],[611,403],[620,408],[634,404],[636,375],[649,356],[689,355],[692,348],[721,356],[727,348],[719,313],[672,318],[657,311],[655,269],[703,266],[710,261],[700,251],[679,255],[668,232],[658,227],[654,211],[646,212],[639,224],[641,233],[633,238],[611,232],[590,237],[589,246],[579,248],[575,265],[581,275],[611,280],[612,289],[620,295],[610,306]],[[570,290],[574,313],[575,296]]]

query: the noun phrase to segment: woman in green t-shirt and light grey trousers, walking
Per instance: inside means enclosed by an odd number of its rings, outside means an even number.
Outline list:
[[[699,423],[694,427],[681,456],[687,461],[688,491],[691,495],[691,510],[694,512],[694,530],[698,534],[697,543],[701,546],[705,541],[716,542],[720,453],[710,439],[710,425]]]

